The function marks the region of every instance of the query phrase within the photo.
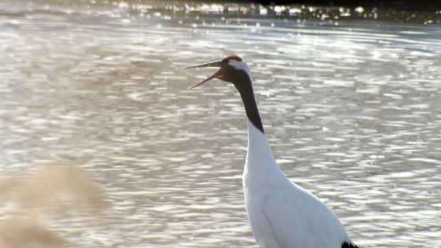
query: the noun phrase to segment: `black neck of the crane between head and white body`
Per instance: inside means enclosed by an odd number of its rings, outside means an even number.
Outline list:
[[[245,72],[241,73],[233,84],[239,91],[240,97],[242,97],[249,121],[251,121],[254,127],[257,127],[260,132],[263,132],[262,121],[260,120],[259,110],[257,109],[256,99],[254,98],[253,85],[248,74]],[[265,132],[263,133],[265,134]]]

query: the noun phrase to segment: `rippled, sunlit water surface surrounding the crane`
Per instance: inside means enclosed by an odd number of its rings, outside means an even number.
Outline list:
[[[227,54],[252,69],[280,167],[358,245],[441,244],[439,24],[10,5],[1,170],[83,164],[112,207],[50,223],[79,247],[257,247],[238,93],[220,81],[186,90],[212,71],[181,70]]]

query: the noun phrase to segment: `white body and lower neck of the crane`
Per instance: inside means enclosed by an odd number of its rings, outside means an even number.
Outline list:
[[[264,248],[340,248],[350,243],[336,215],[316,196],[285,176],[265,134],[248,120],[243,172],[245,207],[252,231]]]

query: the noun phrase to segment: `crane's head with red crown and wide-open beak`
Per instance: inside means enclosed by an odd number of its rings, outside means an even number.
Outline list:
[[[222,81],[233,83],[237,88],[240,88],[240,86],[244,83],[251,83],[251,73],[249,72],[248,65],[245,63],[245,61],[240,59],[240,56],[237,55],[227,56],[221,61],[214,61],[202,65],[187,66],[183,69],[206,67],[216,67],[220,69],[212,76],[209,76],[204,81],[201,81],[201,83],[196,83],[192,87],[189,87],[189,90],[212,79],[220,79]]]

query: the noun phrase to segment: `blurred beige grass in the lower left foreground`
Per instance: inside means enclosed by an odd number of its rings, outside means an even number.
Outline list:
[[[0,248],[76,247],[47,227],[53,218],[103,211],[103,191],[70,163],[39,165],[0,175]]]

